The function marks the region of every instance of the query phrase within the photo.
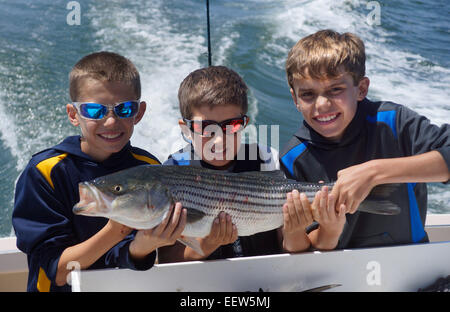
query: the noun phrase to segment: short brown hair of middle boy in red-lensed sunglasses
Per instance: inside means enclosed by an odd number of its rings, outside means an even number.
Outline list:
[[[235,105],[247,113],[247,85],[232,69],[210,66],[191,72],[180,84],[178,101],[183,118],[192,117],[192,109]]]

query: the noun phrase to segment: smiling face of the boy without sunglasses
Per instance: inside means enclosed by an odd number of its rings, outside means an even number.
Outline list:
[[[294,79],[291,95],[305,121],[317,133],[340,140],[356,114],[357,102],[367,95],[369,83],[364,77],[355,86],[348,73],[332,79]]]

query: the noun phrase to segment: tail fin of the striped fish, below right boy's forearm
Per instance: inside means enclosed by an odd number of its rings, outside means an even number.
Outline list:
[[[358,210],[380,215],[397,215],[400,206],[392,201],[393,194],[399,191],[401,184],[380,184],[372,189],[367,198],[359,205]]]

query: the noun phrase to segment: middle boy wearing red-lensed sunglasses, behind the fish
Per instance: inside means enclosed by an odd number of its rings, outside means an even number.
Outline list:
[[[178,100],[183,117],[179,125],[189,144],[170,155],[164,165],[190,165],[230,172],[278,169],[276,150],[241,143],[241,131],[249,122],[247,86],[236,72],[224,66],[198,69],[181,83]],[[176,242],[174,246],[158,249],[158,260],[161,263],[211,260],[281,251],[279,229],[239,237],[232,222],[229,215],[220,213],[210,234],[198,238],[204,255]],[[298,237],[295,239],[299,240]],[[304,249],[309,247],[306,234],[303,244]]]

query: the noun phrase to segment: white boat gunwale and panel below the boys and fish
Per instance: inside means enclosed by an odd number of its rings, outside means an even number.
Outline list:
[[[416,291],[450,275],[450,214],[429,214],[426,231],[431,244],[161,264],[145,272],[82,271],[75,277],[81,291],[301,291],[335,283],[342,286],[329,291]],[[221,282],[212,283],[218,271]],[[25,291],[27,275],[15,237],[0,238],[0,291]]]

